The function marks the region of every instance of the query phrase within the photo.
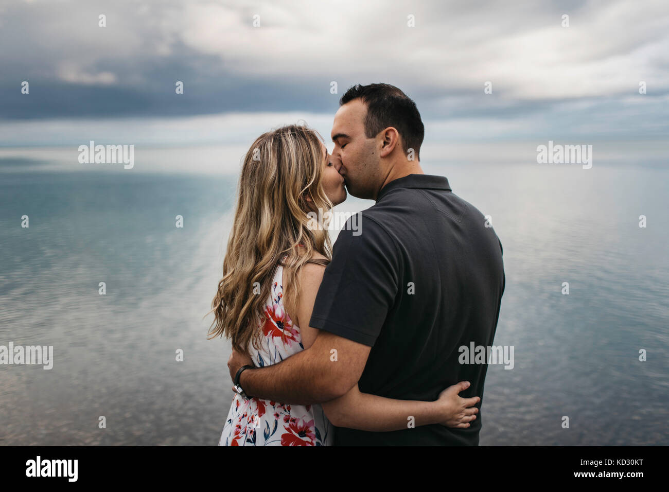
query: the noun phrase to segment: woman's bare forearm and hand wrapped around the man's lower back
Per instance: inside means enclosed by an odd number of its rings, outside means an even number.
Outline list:
[[[480,401],[478,396],[458,396],[458,392],[468,387],[468,382],[460,382],[446,388],[438,400],[422,402],[361,393],[356,384],[347,394],[323,403],[322,407],[328,420],[337,427],[372,432],[403,430],[427,424],[467,428],[478,412],[474,404]]]

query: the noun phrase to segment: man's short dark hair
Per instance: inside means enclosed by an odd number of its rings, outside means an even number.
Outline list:
[[[341,96],[339,105],[357,98],[367,104],[365,137],[371,139],[381,130],[394,127],[402,139],[404,153],[408,154],[409,149],[413,149],[415,159],[420,159],[425,127],[416,103],[407,94],[390,84],[356,84]]]

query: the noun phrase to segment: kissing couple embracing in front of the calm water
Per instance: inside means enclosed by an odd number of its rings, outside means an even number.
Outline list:
[[[209,329],[233,348],[219,445],[478,445],[488,366],[459,355],[492,345],[502,244],[421,169],[411,98],[356,85],[339,104],[331,155],[287,125],[244,157]],[[312,218],[347,191],[376,203],[331,246]]]

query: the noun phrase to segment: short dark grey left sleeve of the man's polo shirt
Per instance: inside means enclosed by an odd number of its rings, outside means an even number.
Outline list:
[[[399,256],[391,236],[362,215],[332,248],[309,325],[373,347],[399,289]],[[351,219],[349,219],[351,221]]]

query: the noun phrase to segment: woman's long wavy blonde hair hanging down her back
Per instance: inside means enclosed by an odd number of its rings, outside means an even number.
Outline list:
[[[284,291],[290,291],[284,301],[294,307],[300,268],[314,252],[332,258],[326,227],[307,227],[308,212],[332,208],[322,187],[320,142],[316,131],[286,125],[260,135],[246,153],[223,278],[211,303],[215,319],[209,339],[225,335],[233,349],[249,355],[250,343],[260,345],[260,323],[278,264],[284,265]],[[254,294],[256,282],[260,295]]]

